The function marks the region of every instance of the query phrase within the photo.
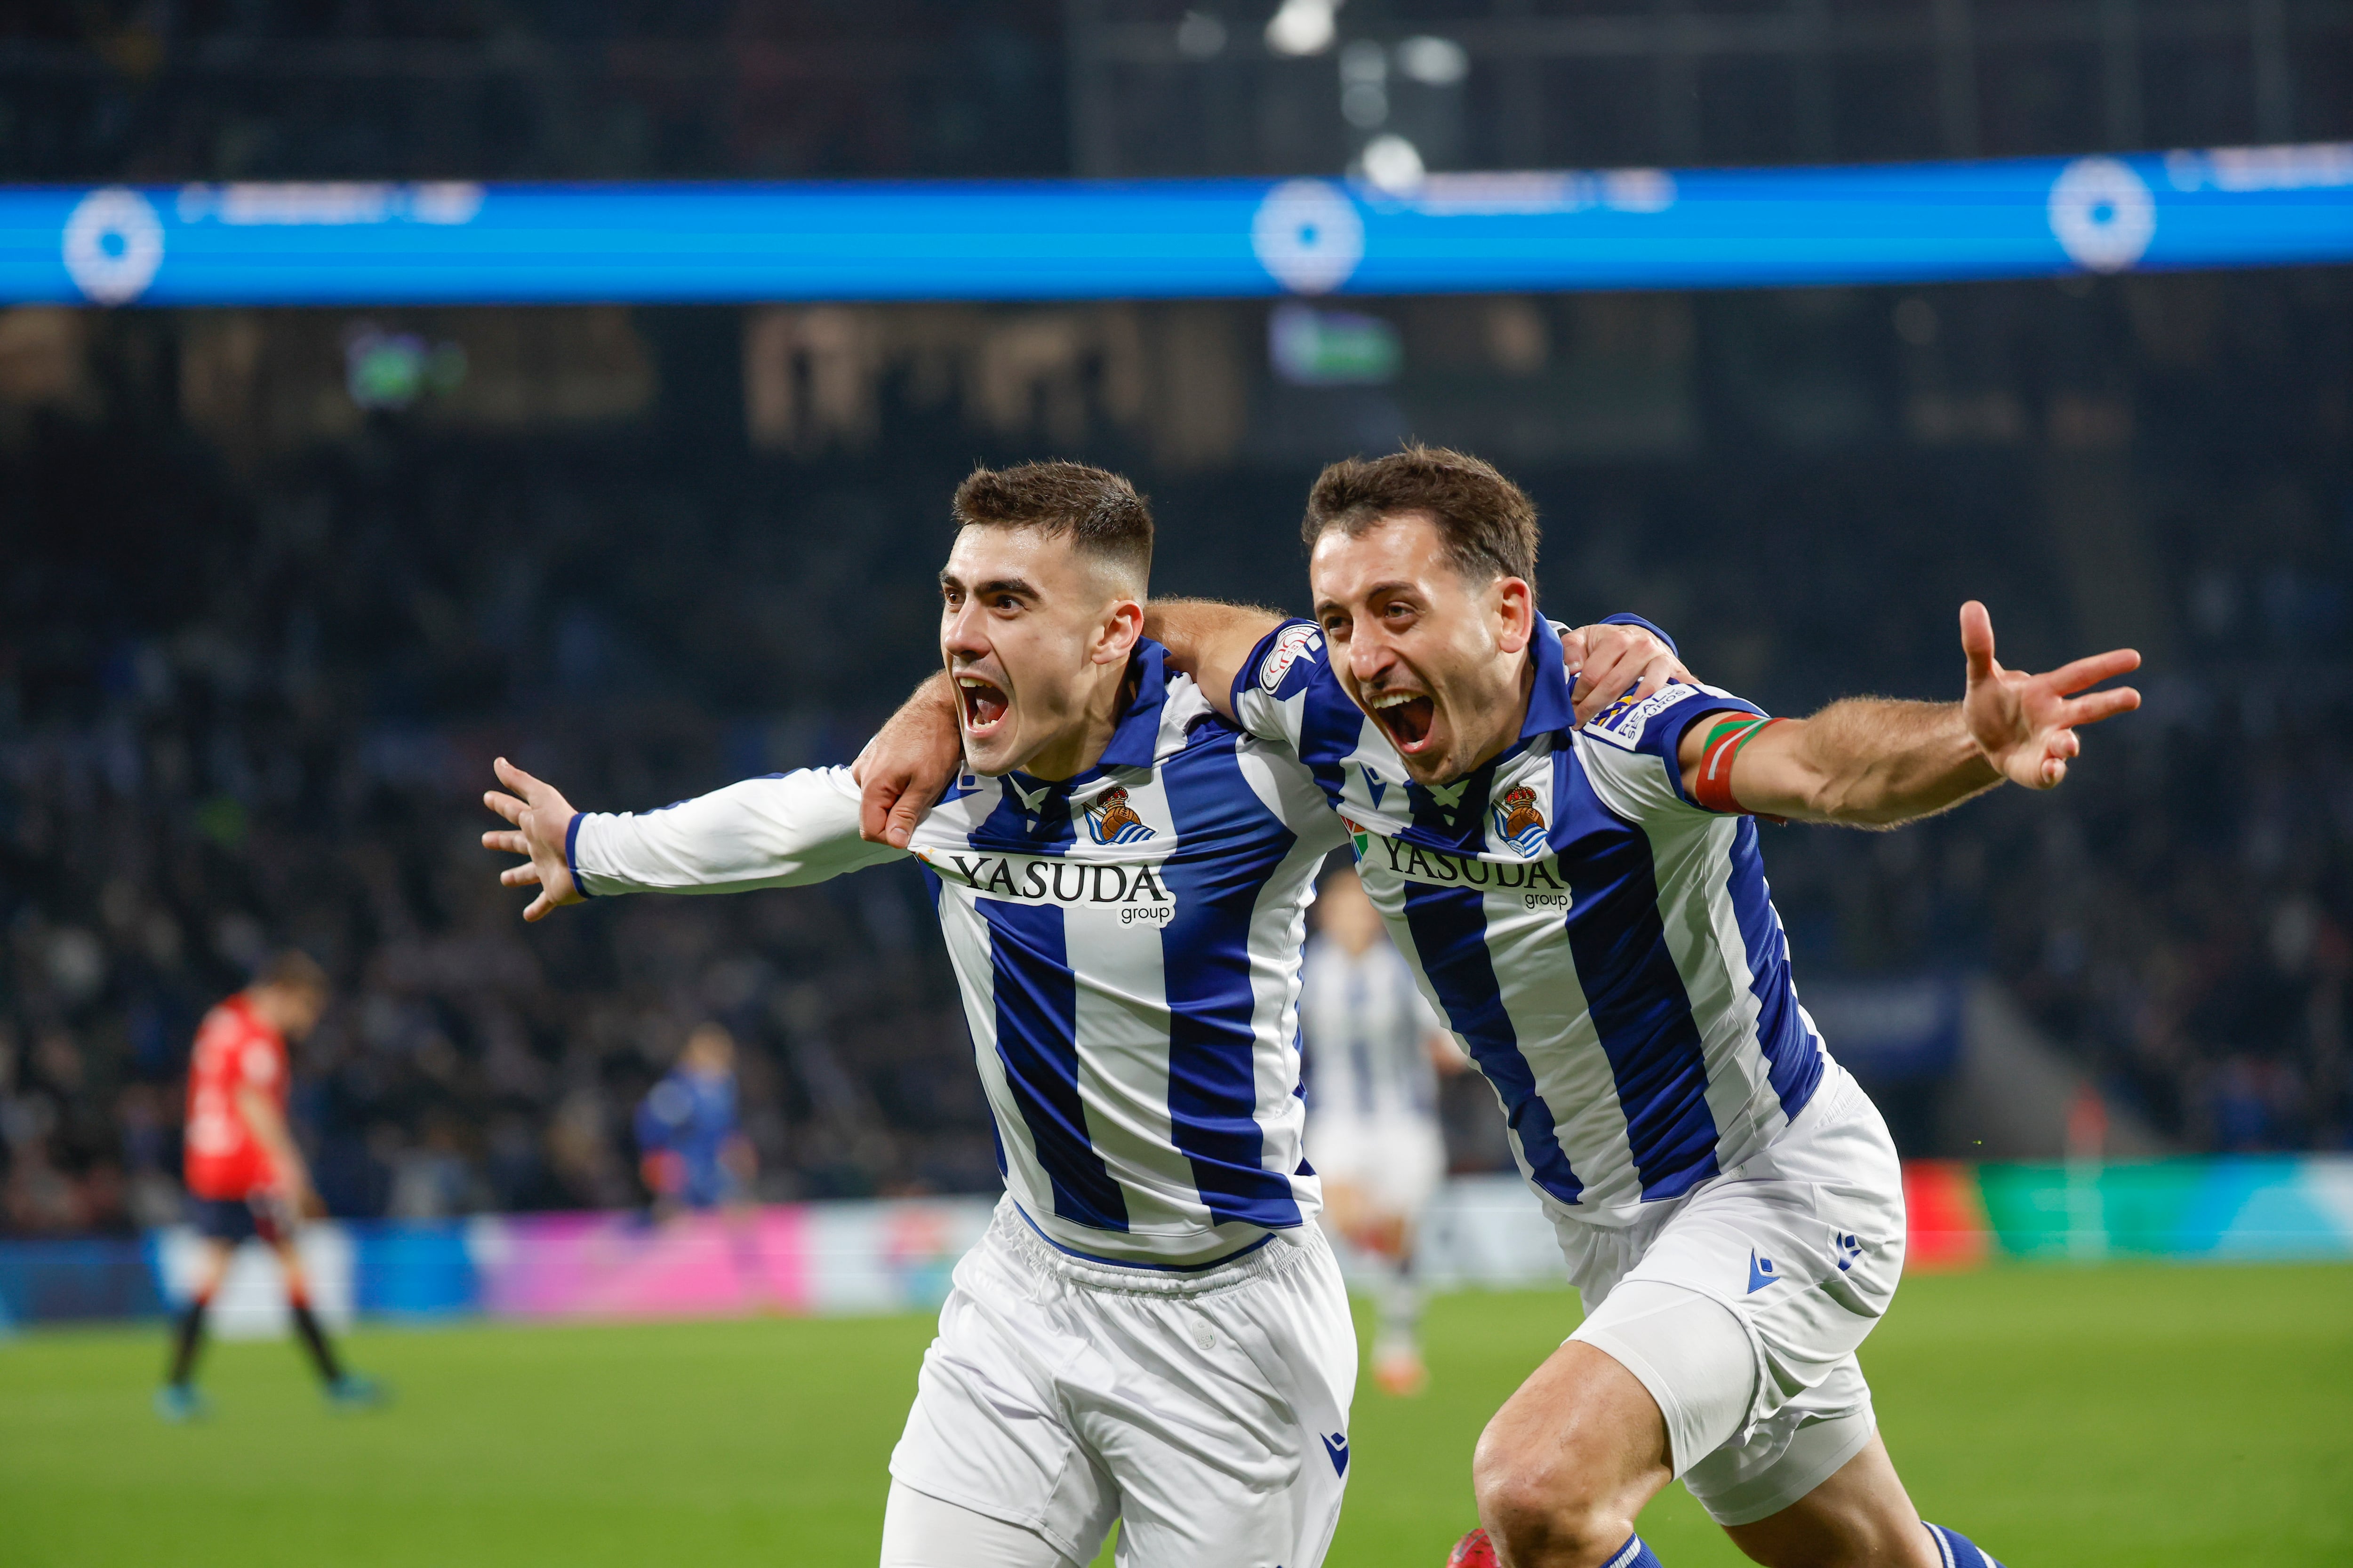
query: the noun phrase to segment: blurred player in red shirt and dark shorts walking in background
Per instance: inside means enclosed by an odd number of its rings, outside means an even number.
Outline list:
[[[205,1013],[188,1060],[188,1211],[205,1239],[195,1291],[179,1316],[172,1373],[155,1392],[165,1420],[202,1415],[195,1354],[205,1316],[238,1246],[259,1239],[285,1269],[287,1307],[311,1363],[336,1406],[372,1406],[381,1389],[346,1373],[311,1309],[294,1232],[325,1213],[311,1168],[287,1126],[287,1041],[304,1039],[327,1011],[327,971],[304,952],[280,952],[242,992]]]

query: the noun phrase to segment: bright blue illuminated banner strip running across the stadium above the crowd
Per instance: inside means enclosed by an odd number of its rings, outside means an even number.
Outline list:
[[[1365,181],[0,188],[0,303],[1245,299],[2353,261],[2353,143]]]

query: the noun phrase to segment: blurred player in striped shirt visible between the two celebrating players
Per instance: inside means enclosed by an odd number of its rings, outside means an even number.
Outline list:
[[[1414,1237],[1447,1173],[1438,1072],[1468,1063],[1353,870],[1325,877],[1315,929],[1299,992],[1308,1164],[1325,1178],[1332,1227],[1377,1272],[1372,1380],[1388,1394],[1419,1394],[1428,1371]]]

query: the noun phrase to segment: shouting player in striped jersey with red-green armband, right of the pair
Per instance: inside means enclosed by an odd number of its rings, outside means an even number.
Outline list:
[[[2049,790],[2080,726],[2139,705],[2075,693],[2139,656],[2005,670],[1972,602],[1960,703],[1774,719],[1645,679],[1595,712],[1624,686],[1574,691],[1534,505],[1487,463],[1334,463],[1304,534],[1313,621],[1165,607],[1158,635],[1346,820],[1584,1295],[1473,1458],[1501,1561],[1657,1563],[1633,1521],[1680,1476],[1774,1568],[1991,1563],[1920,1521],[1878,1436],[1854,1352],[1901,1274],[1901,1171],[1798,1006],[1753,818],[1889,827]],[[894,837],[946,769],[911,703],[868,748],[868,827]]]

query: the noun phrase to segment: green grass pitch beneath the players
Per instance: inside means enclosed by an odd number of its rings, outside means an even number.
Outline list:
[[[1431,1392],[1365,1392],[1334,1568],[1438,1568],[1487,1413],[1560,1293],[1431,1309]],[[162,1333],[0,1342],[9,1568],[671,1568],[875,1561],[927,1319],[367,1331],[400,1401],[329,1415],[289,1345],[214,1345],[162,1427]],[[1920,1276],[1864,1349],[1929,1519],[2012,1568],[2353,1563],[2353,1267]],[[1682,1488],[1642,1533],[1737,1563]],[[1108,1561],[1108,1559],[1106,1559]]]

